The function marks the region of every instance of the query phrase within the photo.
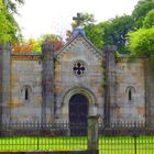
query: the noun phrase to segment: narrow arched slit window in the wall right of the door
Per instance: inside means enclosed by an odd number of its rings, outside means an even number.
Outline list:
[[[132,87],[132,86],[129,86],[125,90],[125,94],[127,94],[128,101],[133,101],[134,100],[135,88]]]

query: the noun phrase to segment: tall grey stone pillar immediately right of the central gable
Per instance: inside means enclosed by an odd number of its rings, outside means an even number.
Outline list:
[[[106,56],[106,102],[105,102],[105,124],[109,125],[116,111],[116,57],[117,47],[114,45],[105,47]]]

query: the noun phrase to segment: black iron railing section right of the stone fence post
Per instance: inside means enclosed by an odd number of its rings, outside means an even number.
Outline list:
[[[100,154],[154,154],[154,128],[144,122],[99,125]]]

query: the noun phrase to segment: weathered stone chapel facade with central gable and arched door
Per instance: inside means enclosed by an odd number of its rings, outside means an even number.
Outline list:
[[[146,58],[116,58],[114,46],[99,52],[76,28],[57,53],[11,53],[0,48],[2,122],[106,122],[154,119],[154,77]],[[103,54],[102,54],[103,53]]]

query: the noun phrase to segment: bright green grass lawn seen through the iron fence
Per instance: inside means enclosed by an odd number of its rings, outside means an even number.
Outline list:
[[[0,138],[0,152],[87,150],[87,138]],[[136,143],[136,144],[135,144]],[[154,136],[100,136],[100,154],[154,154]]]

